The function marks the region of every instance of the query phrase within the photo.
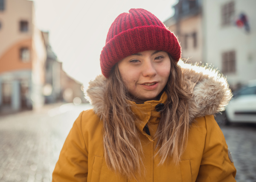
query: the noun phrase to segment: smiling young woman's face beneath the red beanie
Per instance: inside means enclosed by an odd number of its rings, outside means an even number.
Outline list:
[[[129,93],[136,100],[154,100],[166,86],[171,61],[167,52],[143,51],[118,62],[118,69]]]

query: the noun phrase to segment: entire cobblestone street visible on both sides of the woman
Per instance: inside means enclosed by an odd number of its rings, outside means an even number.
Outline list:
[[[64,104],[0,116],[0,181],[50,182],[64,140],[82,110]],[[237,182],[256,182],[256,125],[222,126]]]

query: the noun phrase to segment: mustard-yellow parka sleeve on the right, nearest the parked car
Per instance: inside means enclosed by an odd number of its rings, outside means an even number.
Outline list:
[[[220,127],[212,115],[205,116],[205,123],[207,134],[196,181],[235,182],[236,168],[229,157],[227,144]]]

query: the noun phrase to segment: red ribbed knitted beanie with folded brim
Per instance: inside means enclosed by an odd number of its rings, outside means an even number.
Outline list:
[[[147,50],[166,51],[176,62],[181,54],[175,35],[154,14],[145,9],[120,14],[110,26],[100,55],[102,74],[108,78],[118,61]]]

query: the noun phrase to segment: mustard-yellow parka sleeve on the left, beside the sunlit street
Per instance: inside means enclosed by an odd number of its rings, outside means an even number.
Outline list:
[[[81,115],[76,119],[62,147],[52,173],[52,182],[86,182],[88,152],[81,130]]]

